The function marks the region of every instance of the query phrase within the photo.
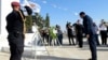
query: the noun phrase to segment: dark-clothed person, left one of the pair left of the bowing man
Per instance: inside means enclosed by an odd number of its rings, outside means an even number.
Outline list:
[[[66,25],[66,28],[67,28],[69,45],[71,45],[71,40],[72,40],[72,44],[76,45],[75,41],[73,41],[73,34],[72,34],[72,29],[71,29],[70,22]]]

